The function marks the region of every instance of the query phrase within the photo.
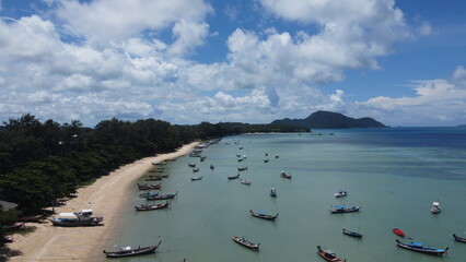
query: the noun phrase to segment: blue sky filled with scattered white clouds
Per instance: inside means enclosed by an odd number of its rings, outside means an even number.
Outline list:
[[[466,123],[464,0],[0,0],[0,121]]]

